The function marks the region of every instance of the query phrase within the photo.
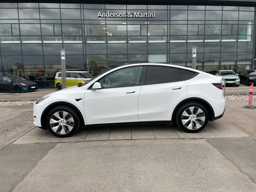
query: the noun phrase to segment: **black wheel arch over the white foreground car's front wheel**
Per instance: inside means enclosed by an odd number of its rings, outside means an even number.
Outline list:
[[[78,117],[81,120],[81,123],[83,124],[83,127],[84,127],[84,118],[83,118],[81,111],[79,109],[77,109],[76,106],[74,106],[73,104],[70,104],[69,102],[60,101],[60,102],[54,102],[54,103],[50,104],[49,106],[47,106],[47,108],[44,109],[42,116],[41,116],[41,125],[42,125],[43,129],[45,129],[45,130],[47,129],[46,125],[45,125],[46,121],[44,121],[47,114],[51,111],[51,109],[59,107],[59,106],[67,106],[67,107],[73,109],[74,111],[76,111],[76,113],[78,114]]]

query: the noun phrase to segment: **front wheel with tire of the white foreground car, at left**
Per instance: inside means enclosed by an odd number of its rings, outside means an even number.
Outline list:
[[[72,136],[81,125],[81,120],[74,109],[67,106],[53,108],[46,116],[47,129],[60,138]]]

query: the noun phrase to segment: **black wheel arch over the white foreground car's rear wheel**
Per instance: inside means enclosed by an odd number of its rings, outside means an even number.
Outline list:
[[[214,114],[214,110],[212,109],[211,104],[209,104],[209,102],[207,102],[206,100],[200,99],[198,97],[191,97],[191,98],[182,100],[179,104],[177,104],[177,106],[175,107],[175,109],[173,110],[173,113],[172,113],[172,120],[174,119],[174,116],[177,115],[177,111],[180,108],[180,106],[182,106],[183,104],[188,103],[188,102],[198,102],[198,103],[202,104],[208,112],[209,121],[214,120],[215,114]]]

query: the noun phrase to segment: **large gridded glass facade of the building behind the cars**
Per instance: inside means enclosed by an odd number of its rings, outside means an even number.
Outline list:
[[[98,17],[154,13],[154,18]],[[244,6],[0,3],[0,76],[22,76],[54,87],[61,71],[93,76],[125,63],[192,65],[240,72],[253,67],[255,8]]]

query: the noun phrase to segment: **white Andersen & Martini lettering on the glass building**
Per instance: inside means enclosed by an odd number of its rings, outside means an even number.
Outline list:
[[[102,17],[102,18],[155,18],[156,13],[150,13],[150,12],[146,12],[146,13],[140,13],[140,12],[128,12],[128,13],[98,13],[98,18]]]

